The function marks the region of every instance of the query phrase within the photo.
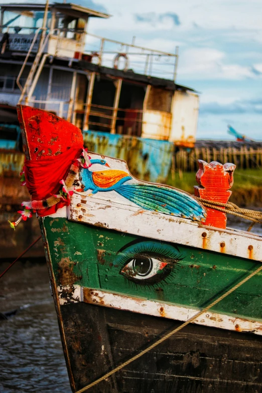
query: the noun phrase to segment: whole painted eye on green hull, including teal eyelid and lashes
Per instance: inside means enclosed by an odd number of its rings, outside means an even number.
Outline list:
[[[126,245],[118,251],[116,263],[120,274],[137,285],[154,285],[165,282],[175,273],[181,260],[176,246],[157,241],[142,241]]]

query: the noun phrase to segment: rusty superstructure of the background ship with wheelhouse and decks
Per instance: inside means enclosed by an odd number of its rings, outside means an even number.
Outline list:
[[[198,94],[176,84],[176,53],[88,33],[110,15],[75,4],[2,4],[0,104],[54,112],[90,132],[193,147]],[[93,134],[92,134],[93,138]],[[113,137],[112,137],[113,138]]]

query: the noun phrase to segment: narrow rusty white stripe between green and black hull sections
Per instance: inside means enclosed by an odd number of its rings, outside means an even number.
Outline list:
[[[61,294],[67,293],[70,288],[72,289],[70,286],[58,287],[58,296],[61,305],[81,301],[99,306],[132,311],[139,314],[164,317],[183,322],[187,321],[199,311],[199,309],[160,303],[143,298],[134,298],[97,289],[84,288],[78,285],[73,286],[73,297],[75,298],[75,294],[78,294],[77,300],[73,301],[72,297],[70,296],[68,299],[65,297],[61,298]],[[206,314],[198,317],[194,323],[220,329],[234,330],[238,332],[251,332],[262,335],[262,321],[253,321],[238,317],[236,318],[234,316],[217,314],[211,311],[208,311]]]

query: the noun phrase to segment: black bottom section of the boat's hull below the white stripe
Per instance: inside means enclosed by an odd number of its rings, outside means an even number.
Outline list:
[[[75,390],[180,322],[74,303],[61,307]],[[189,325],[88,393],[259,393],[262,336]],[[72,381],[71,381],[72,382]]]

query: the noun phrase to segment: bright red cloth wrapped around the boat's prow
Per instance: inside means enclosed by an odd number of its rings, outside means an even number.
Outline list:
[[[32,200],[40,201],[59,193],[60,180],[66,179],[73,161],[80,157],[82,148],[80,145],[74,146],[58,156],[25,161],[26,185]],[[37,214],[44,217],[66,205],[68,206],[69,202],[60,201],[54,206],[37,210]]]

